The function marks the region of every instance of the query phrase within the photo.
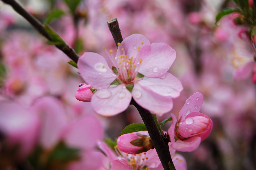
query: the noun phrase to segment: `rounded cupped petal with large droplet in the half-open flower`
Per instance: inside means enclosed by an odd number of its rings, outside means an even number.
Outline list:
[[[210,119],[204,116],[195,116],[196,114],[200,114],[199,112],[192,112],[193,114],[189,114],[184,120],[180,122],[177,131],[183,137],[189,137],[190,135],[201,136],[204,131],[207,130],[210,124]],[[194,115],[194,116],[192,116]]]

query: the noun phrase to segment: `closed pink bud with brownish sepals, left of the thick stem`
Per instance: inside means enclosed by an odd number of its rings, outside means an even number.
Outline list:
[[[153,144],[147,131],[121,135],[116,142],[120,151],[134,155],[153,149]]]

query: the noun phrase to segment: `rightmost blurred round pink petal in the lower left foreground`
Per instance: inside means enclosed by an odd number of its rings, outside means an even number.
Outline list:
[[[103,138],[103,128],[99,120],[89,115],[68,125],[64,133],[65,142],[74,148],[93,148]]]

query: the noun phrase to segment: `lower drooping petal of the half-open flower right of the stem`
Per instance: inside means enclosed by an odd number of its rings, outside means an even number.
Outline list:
[[[191,152],[198,148],[201,143],[201,138],[194,136],[184,141],[178,139],[176,142],[172,142],[171,147],[177,151]]]

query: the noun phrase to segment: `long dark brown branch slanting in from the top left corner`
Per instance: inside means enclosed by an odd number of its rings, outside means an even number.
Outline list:
[[[33,15],[31,15],[25,8],[23,8],[16,0],[2,0],[4,3],[9,4],[12,8],[24,17],[39,33],[41,33],[45,38],[51,41],[51,37],[44,29],[44,25],[38,21]],[[76,52],[70,48],[68,45],[66,47],[61,45],[56,45],[58,49],[63,51],[70,59],[77,63],[79,56]]]

